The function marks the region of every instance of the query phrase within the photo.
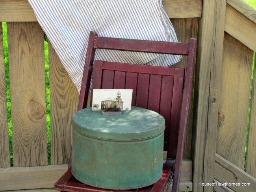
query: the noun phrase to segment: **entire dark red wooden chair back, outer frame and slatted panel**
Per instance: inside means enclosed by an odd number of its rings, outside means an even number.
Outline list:
[[[96,49],[187,55],[186,73],[180,67],[161,67],[95,61]],[[91,74],[93,89],[133,89],[132,106],[160,113],[165,118],[164,150],[175,160],[179,182],[195,64],[196,40],[189,43],[98,37],[90,33],[78,110],[87,105]],[[94,64],[93,64],[94,62]],[[91,102],[92,103],[92,102]]]

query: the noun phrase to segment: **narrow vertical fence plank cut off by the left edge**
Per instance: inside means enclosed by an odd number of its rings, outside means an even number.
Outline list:
[[[6,106],[6,79],[4,70],[4,46],[0,22],[0,167],[10,166],[9,139]]]

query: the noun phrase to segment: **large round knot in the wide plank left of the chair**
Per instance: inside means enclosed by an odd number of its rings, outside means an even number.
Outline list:
[[[33,120],[40,120],[45,116],[44,107],[36,101],[30,101],[28,103],[27,111],[29,118]]]

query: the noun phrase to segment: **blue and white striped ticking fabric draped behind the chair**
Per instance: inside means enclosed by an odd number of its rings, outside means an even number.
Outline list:
[[[80,90],[90,31],[102,37],[177,42],[161,0],[28,0]],[[169,66],[180,55],[97,50],[96,60]]]

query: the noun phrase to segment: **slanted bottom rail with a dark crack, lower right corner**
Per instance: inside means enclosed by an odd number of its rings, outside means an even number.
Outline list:
[[[221,183],[237,183],[239,185],[228,186],[237,192],[252,192],[255,191],[256,178],[244,172],[236,165],[230,163],[217,153],[215,154],[215,171],[214,177]],[[242,183],[250,183],[248,186],[243,186]]]

